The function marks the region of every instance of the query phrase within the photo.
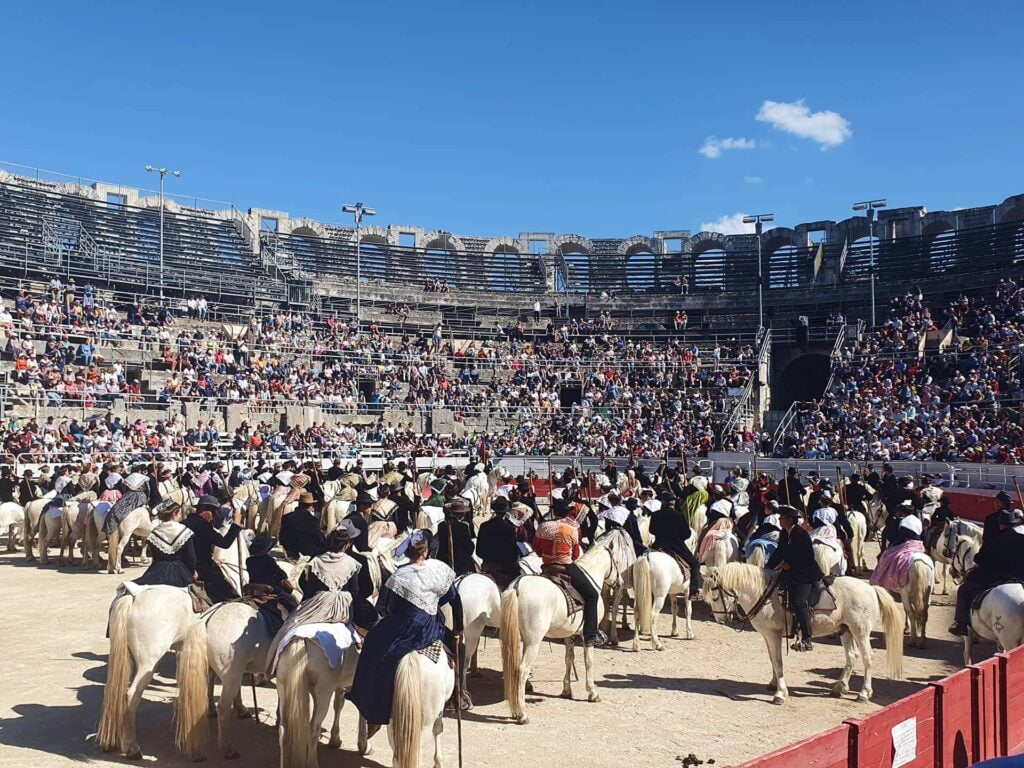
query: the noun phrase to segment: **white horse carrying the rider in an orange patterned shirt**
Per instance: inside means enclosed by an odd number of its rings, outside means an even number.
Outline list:
[[[623,562],[626,548],[633,552],[629,535],[616,529],[595,542],[575,564],[599,588],[613,586],[625,572]],[[603,599],[598,596],[598,615],[603,613]],[[547,637],[565,643],[565,677],[562,679],[562,696],[572,697],[569,675],[572,671],[573,639],[583,631],[583,611],[568,614],[565,596],[555,584],[543,577],[524,575],[517,579],[502,595],[502,671],[505,698],[513,719],[520,725],[529,722],[526,717],[526,679],[537,659],[541,641]],[[600,701],[594,686],[594,648],[584,646],[584,667],[587,699]]]

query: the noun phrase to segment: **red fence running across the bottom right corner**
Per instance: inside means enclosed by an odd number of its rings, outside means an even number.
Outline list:
[[[1024,753],[1024,647],[737,768],[968,768]]]

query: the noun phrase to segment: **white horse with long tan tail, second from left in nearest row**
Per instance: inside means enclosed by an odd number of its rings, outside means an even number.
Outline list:
[[[231,743],[231,708],[249,717],[242,705],[242,678],[263,674],[273,636],[266,621],[244,602],[218,603],[200,616],[178,653],[178,698],[175,744],[189,760],[204,760],[207,713],[213,697],[210,672],[220,681],[217,699],[217,744],[224,758],[239,757]]]

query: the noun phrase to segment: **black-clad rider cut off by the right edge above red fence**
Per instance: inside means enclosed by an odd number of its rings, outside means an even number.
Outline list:
[[[982,543],[974,557],[976,567],[956,592],[955,621],[949,632],[958,637],[969,634],[971,605],[981,592],[1005,582],[1024,582],[1024,512],[1002,509],[994,514],[998,528]]]

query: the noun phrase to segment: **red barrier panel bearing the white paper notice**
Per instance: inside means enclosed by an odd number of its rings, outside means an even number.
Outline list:
[[[970,686],[970,679],[968,684]],[[916,718],[915,757],[903,765],[909,768],[934,768],[935,707],[935,688],[929,687],[865,718],[847,720],[850,726],[850,767],[890,768],[893,764],[893,727],[904,720]]]

